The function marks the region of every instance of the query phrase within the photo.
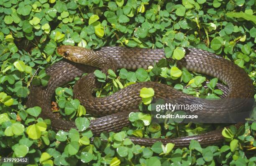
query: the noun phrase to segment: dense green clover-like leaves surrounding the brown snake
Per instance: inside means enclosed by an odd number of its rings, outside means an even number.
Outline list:
[[[184,57],[184,47],[196,47],[232,60],[255,85],[253,6],[254,0],[0,0],[0,156],[26,156],[31,165],[255,166],[255,122],[225,128],[226,140],[218,146],[201,147],[197,141],[183,149],[160,142],[152,147],[134,145],[127,136],[174,138],[222,126],[151,123],[147,106],[153,89],[141,90],[143,112],[130,114],[130,127],[102,133],[93,142],[87,128],[95,117],[72,98],[75,80],[56,89],[53,111],[74,120],[77,129],[53,131],[48,119],[38,117],[40,107],[26,107],[31,83],[46,86],[45,68],[61,59],[56,55],[59,45],[164,48],[166,57],[174,60]],[[96,96],[149,80],[197,97],[222,94],[215,87],[218,79],[180,69],[174,60],[161,60],[148,70],[109,70],[108,76],[96,70],[98,80],[106,82]],[[256,110],[248,120],[255,119]],[[7,165],[12,164],[3,164]]]

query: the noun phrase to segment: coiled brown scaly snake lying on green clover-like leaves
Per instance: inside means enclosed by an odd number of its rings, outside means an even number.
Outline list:
[[[107,73],[108,69],[114,72],[121,68],[148,69],[148,66],[154,66],[160,59],[166,59],[164,49],[102,47],[89,50],[78,46],[63,45],[59,46],[56,52],[64,59],[46,69],[46,73],[50,75],[46,87],[33,85],[30,87],[31,93],[27,101],[28,107],[41,107],[40,116],[50,119],[51,127],[55,130],[69,131],[77,128],[74,121],[63,119],[51,110],[55,89],[66,85],[76,77],[81,78],[74,84],[74,98],[79,99],[87,113],[99,116],[90,121],[89,129],[94,136],[100,136],[103,131],[120,131],[124,126],[131,125],[128,116],[132,111],[138,111],[138,105],[141,103],[140,91],[143,87],[153,88],[156,99],[182,104],[202,104],[203,109],[194,113],[208,120],[221,119],[220,116],[224,117],[228,114],[243,115],[246,114],[246,107],[252,107],[249,99],[253,98],[254,87],[244,69],[228,59],[205,50],[186,48],[184,58],[179,60],[179,65],[192,72],[217,77],[224,82],[228,87],[224,89],[224,99],[209,100],[194,97],[169,85],[154,81],[138,82],[109,96],[95,97],[94,89],[101,84],[93,73],[95,69],[101,69],[103,73]],[[82,76],[84,73],[88,74]],[[236,126],[241,126],[241,124],[236,124]],[[134,144],[143,146],[151,146],[156,141],[161,141],[163,144],[173,143],[175,147],[185,147],[189,146],[191,140],[199,141],[201,146],[208,146],[223,142],[222,130],[223,128],[220,128],[203,134],[178,138],[129,137],[129,139]]]

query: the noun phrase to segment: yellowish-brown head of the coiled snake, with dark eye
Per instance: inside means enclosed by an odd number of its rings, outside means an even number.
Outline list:
[[[82,57],[83,49],[84,48],[77,46],[62,45],[57,48],[57,52],[66,59],[73,62],[79,62],[79,59]]]

